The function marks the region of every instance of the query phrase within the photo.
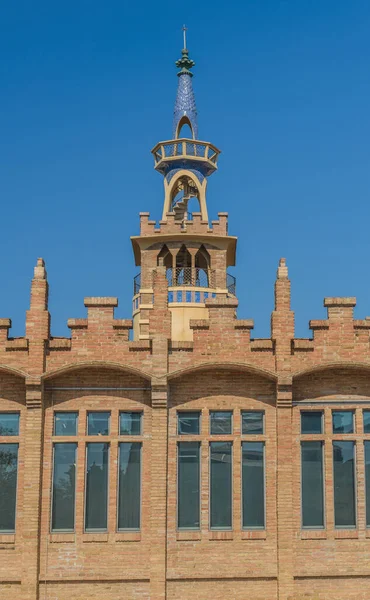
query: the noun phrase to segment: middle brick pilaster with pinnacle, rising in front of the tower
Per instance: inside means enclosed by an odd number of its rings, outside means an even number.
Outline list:
[[[171,339],[171,314],[167,308],[167,279],[163,264],[153,272],[153,292],[154,306],[149,317],[153,357],[150,600],[165,600],[168,460],[166,376],[168,343]]]

